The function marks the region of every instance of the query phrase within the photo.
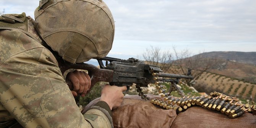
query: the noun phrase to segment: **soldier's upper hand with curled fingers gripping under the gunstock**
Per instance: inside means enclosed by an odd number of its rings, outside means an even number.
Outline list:
[[[91,87],[91,78],[84,71],[75,70],[70,72],[66,76],[66,79],[72,83],[72,87],[69,87],[74,97],[78,96],[78,94],[84,97]]]

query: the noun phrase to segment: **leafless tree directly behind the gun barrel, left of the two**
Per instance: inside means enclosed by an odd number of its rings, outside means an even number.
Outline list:
[[[146,49],[143,53],[144,61],[149,65],[157,65],[167,72],[172,66],[172,54],[169,50],[162,51],[159,47],[153,47],[151,45],[150,49]]]

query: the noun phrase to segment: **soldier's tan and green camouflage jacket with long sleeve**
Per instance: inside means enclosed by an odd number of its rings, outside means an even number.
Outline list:
[[[0,26],[0,122],[17,120],[28,128],[113,127],[105,109],[80,112],[33,19],[26,20],[25,30]]]

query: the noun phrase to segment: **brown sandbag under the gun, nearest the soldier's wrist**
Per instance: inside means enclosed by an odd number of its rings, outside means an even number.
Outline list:
[[[159,98],[159,96],[150,94],[147,96]],[[86,105],[82,113],[96,104],[98,100],[95,99]],[[175,110],[159,109],[149,101],[141,100],[138,95],[125,96],[121,106],[112,110],[115,128],[170,128],[176,116]]]

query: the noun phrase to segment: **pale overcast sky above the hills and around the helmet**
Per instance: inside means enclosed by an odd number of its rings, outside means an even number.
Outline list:
[[[162,50],[256,52],[256,0],[105,0],[115,19],[108,56]],[[0,0],[0,11],[34,17],[39,0]]]

